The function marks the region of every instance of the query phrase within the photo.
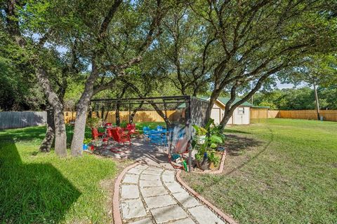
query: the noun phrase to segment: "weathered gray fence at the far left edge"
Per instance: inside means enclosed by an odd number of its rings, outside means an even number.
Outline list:
[[[46,125],[46,111],[1,111],[0,130]]]

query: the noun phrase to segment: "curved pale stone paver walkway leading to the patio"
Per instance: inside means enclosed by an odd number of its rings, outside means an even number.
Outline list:
[[[123,223],[225,223],[180,186],[172,170],[138,165],[119,189]]]

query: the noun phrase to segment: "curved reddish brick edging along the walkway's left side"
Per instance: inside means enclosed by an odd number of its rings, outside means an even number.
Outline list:
[[[114,182],[114,196],[112,197],[112,216],[114,218],[114,224],[123,224],[123,222],[121,221],[121,212],[119,211],[119,185],[121,183],[121,180],[129,169],[136,167],[139,164],[139,162],[135,162],[133,163],[133,165],[130,165],[123,169],[123,171],[119,174],[116,181]]]

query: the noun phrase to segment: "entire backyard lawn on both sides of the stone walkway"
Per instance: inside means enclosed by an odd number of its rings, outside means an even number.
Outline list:
[[[111,223],[113,181],[131,162],[39,153],[44,133],[0,131],[0,223]],[[337,123],[274,119],[225,134],[223,174],[183,174],[197,192],[239,223],[337,223]]]

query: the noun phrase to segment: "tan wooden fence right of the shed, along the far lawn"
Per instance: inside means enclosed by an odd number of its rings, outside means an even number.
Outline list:
[[[337,110],[322,110],[320,115],[323,120],[337,121]],[[317,120],[316,110],[299,110],[299,111],[284,111],[284,110],[266,110],[266,109],[251,109],[251,120],[269,118],[291,118]]]

